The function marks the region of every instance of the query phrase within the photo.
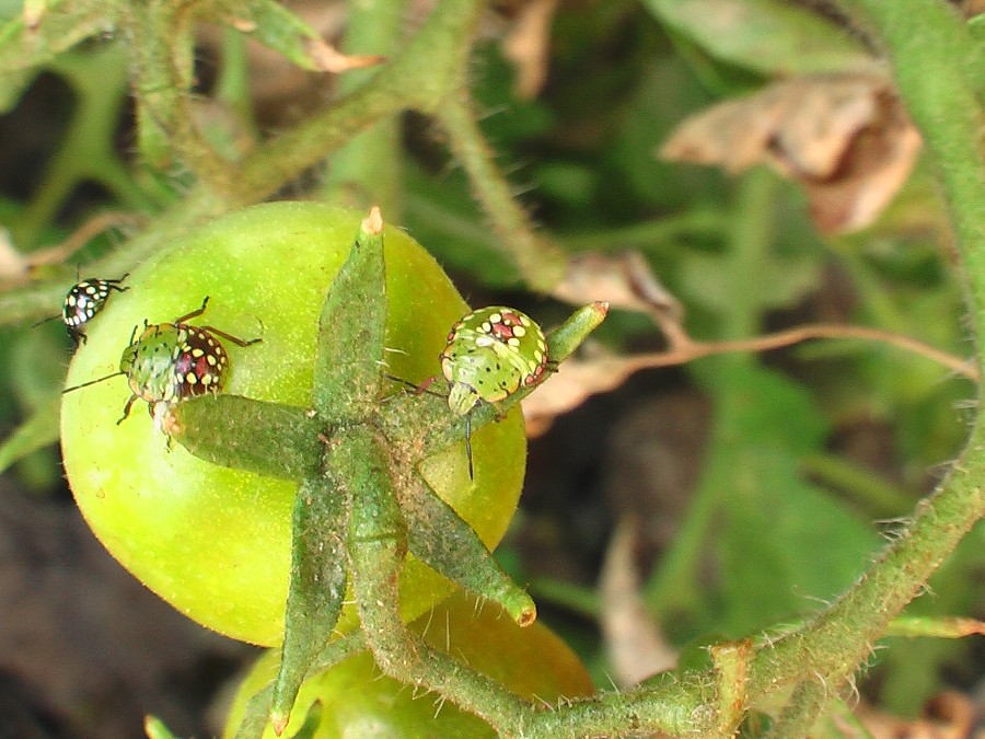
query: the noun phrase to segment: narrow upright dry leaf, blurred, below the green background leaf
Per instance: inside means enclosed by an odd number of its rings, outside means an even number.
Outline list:
[[[677,661],[640,598],[635,542],[636,524],[622,520],[605,553],[599,585],[602,634],[613,678],[621,688],[670,670]]]

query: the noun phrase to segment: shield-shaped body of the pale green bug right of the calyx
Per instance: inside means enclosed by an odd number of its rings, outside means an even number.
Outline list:
[[[441,354],[448,405],[465,415],[479,401],[505,400],[536,383],[546,366],[547,342],[533,320],[512,308],[479,309],[452,327]]]

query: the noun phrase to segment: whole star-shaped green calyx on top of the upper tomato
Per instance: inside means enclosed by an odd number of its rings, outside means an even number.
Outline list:
[[[347,581],[398,574],[408,551],[498,602],[518,624],[536,617],[530,597],[417,470],[461,440],[461,419],[441,399],[405,393],[381,403],[386,315],[376,211],[362,222],[323,304],[311,408],[204,395],[174,405],[164,419],[164,430],[199,458],[299,483],[282,661],[271,707],[275,726],[286,725],[303,677],[331,639]],[[570,354],[602,316],[598,307],[576,313],[576,328],[571,321],[563,326],[555,356]],[[508,399],[500,411],[524,394]],[[473,424],[487,424],[495,415],[478,408]],[[397,612],[396,596],[363,591],[360,598],[359,587],[356,592],[363,623],[386,623]]]

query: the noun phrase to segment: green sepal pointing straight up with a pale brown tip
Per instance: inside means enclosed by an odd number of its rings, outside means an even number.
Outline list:
[[[311,400],[328,422],[363,420],[380,402],[387,304],[382,228],[373,209],[322,307]]]

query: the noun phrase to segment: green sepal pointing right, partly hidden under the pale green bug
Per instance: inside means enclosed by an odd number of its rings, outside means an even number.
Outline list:
[[[594,302],[578,309],[560,326],[547,334],[548,358],[554,365],[563,362],[588,338],[609,313],[609,303]],[[433,386],[433,385],[432,385]],[[441,385],[437,385],[441,392]],[[471,412],[473,432],[499,418],[524,397],[535,392],[537,385],[521,388],[515,393],[499,401],[495,406],[479,403]],[[447,392],[447,391],[445,391]],[[465,436],[465,423],[448,408],[448,403],[434,395],[403,393],[387,400],[380,412],[386,437],[404,448],[420,450],[413,463],[431,457],[461,441]]]

